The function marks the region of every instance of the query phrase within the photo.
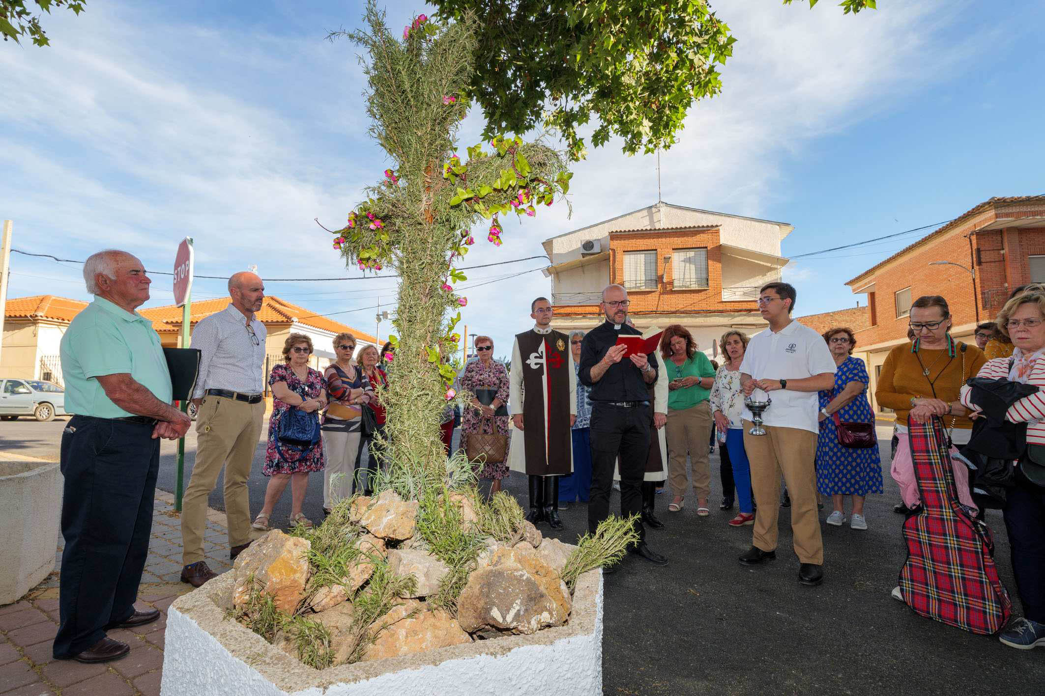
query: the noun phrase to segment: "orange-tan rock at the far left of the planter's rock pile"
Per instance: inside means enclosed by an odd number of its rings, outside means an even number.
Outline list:
[[[251,574],[261,592],[272,596],[276,608],[294,614],[308,580],[308,539],[287,536],[278,529],[255,541],[236,557],[233,606],[242,606],[251,594]]]

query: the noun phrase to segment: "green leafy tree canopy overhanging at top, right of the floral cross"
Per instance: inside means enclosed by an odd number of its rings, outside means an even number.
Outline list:
[[[793,0],[783,0],[790,4]],[[809,0],[810,7],[817,0]],[[694,101],[722,89],[736,39],[704,0],[433,0],[442,16],[479,18],[466,96],[489,137],[545,125],[581,159],[611,136],[624,151],[667,149]],[[875,0],[842,0],[849,13]]]

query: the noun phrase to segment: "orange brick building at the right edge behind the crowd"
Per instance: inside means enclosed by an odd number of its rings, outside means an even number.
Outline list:
[[[940,264],[939,262],[946,262]],[[869,326],[857,333],[874,393],[882,363],[907,340],[908,312],[922,295],[947,298],[952,335],[973,343],[1009,292],[1045,282],[1045,196],[991,198],[846,283],[867,295]]]

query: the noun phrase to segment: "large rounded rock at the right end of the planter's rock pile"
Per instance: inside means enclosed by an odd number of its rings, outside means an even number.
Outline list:
[[[530,550],[501,548],[468,576],[458,621],[469,633],[535,633],[561,626],[573,602],[559,574]]]

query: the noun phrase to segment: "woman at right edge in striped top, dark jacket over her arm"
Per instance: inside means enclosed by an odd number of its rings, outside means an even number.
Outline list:
[[[1020,399],[1005,411],[1005,421],[1026,424],[1025,457],[1030,462],[1022,466],[1045,466],[1045,292],[1030,291],[1018,295],[1002,308],[998,329],[1013,343],[1013,355],[991,360],[977,377],[1009,380],[1039,387],[1037,393]],[[962,389],[962,403],[974,408],[969,400],[971,389]],[[1035,455],[1038,455],[1037,457]],[[1006,489],[1005,528],[1013,547],[1013,574],[1023,603],[1023,618],[1014,619],[998,637],[1005,645],[1029,650],[1045,647],[1045,487],[1036,485],[1022,467],[1017,467],[1013,487]]]

